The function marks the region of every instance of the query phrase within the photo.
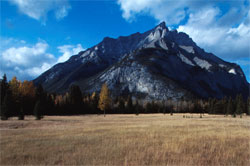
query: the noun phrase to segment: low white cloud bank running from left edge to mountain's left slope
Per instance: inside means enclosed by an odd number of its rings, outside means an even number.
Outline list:
[[[81,44],[63,45],[58,47],[58,56],[55,56],[49,52],[49,44],[43,40],[30,45],[14,38],[0,39],[1,43],[5,43],[4,48],[0,50],[0,75],[6,73],[9,79],[13,76],[20,80],[34,79],[53,65],[64,62],[84,50]]]

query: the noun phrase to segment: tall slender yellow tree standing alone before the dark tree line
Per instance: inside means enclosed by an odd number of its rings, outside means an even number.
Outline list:
[[[109,97],[109,90],[106,83],[102,85],[102,89],[100,92],[100,99],[98,103],[98,108],[103,111],[104,116],[106,113],[106,110],[110,108],[111,105],[111,99]]]

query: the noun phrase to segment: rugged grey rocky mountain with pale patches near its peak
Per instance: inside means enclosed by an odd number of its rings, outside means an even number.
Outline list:
[[[162,22],[145,33],[104,38],[99,44],[57,64],[34,80],[49,92],[100,91],[147,99],[249,95],[241,68],[198,47],[185,33]]]

